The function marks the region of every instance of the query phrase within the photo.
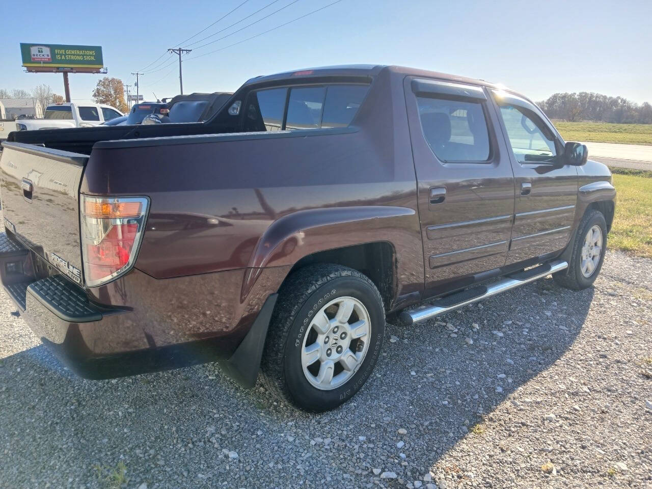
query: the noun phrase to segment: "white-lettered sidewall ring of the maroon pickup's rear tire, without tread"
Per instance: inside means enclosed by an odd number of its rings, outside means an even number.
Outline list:
[[[314,387],[303,373],[301,349],[305,335],[310,330],[314,314],[337,297],[354,297],[361,301],[369,313],[370,340],[367,353],[360,368],[346,383],[323,391]],[[319,287],[303,304],[289,329],[284,357],[284,377],[295,404],[311,411],[325,411],[349,400],[369,378],[383,346],[385,312],[378,291],[363,278],[340,276]]]

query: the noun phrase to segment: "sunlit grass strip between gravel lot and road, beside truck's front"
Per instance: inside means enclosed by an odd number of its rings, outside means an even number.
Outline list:
[[[614,173],[614,186],[618,197],[608,247],[652,258],[652,178]]]

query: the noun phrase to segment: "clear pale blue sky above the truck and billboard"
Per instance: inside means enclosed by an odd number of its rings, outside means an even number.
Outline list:
[[[0,33],[0,88],[31,90],[47,83],[63,95],[61,74],[24,73],[20,66],[19,42],[38,42],[102,46],[108,76],[132,85],[130,73],[141,70],[145,75],[140,92],[145,100],[153,98],[152,92],[159,97],[176,95],[179,78],[174,58],[165,54],[151,63],[166,48],[186,46],[220,31],[272,0],[248,0],[183,43],[243,1],[31,0],[29,8],[12,3],[11,22],[3,22]],[[650,0],[342,0],[226,47],[332,1],[276,0],[258,14],[190,46],[194,51],[183,63],[184,92],[233,91],[252,76],[295,68],[378,63],[483,78],[535,100],[560,91],[595,91],[652,102]],[[89,99],[99,78],[71,74],[72,98]]]

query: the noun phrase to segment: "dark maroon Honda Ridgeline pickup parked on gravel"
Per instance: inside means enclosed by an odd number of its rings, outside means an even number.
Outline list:
[[[614,216],[606,166],[530,100],[411,68],[258,77],[205,123],[3,147],[2,282],[63,363],[217,360],[315,411],[370,376],[386,315],[590,286]]]

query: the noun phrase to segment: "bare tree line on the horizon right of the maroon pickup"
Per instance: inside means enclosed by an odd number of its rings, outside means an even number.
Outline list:
[[[554,93],[538,102],[550,119],[652,124],[652,105],[594,92]]]

